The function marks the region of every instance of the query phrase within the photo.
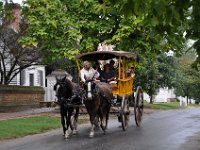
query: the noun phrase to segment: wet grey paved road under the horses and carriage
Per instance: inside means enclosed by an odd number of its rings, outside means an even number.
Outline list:
[[[127,132],[114,120],[106,135],[88,138],[88,125],[79,135],[65,140],[61,129],[45,134],[0,142],[0,150],[199,150],[200,109],[161,111],[145,115],[142,126],[131,118]]]

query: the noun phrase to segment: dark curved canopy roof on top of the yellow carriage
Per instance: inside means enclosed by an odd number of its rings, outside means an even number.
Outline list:
[[[80,60],[108,60],[112,58],[125,57],[127,59],[136,60],[137,55],[126,51],[94,51],[77,55],[76,58]]]

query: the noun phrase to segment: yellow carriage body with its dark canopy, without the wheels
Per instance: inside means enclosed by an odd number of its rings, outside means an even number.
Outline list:
[[[80,71],[81,61],[109,60],[116,58],[118,60],[117,83],[111,83],[113,95],[130,96],[133,91],[134,76],[128,76],[127,71],[135,65],[137,56],[131,52],[125,51],[95,51],[80,54],[77,57],[77,65]]]

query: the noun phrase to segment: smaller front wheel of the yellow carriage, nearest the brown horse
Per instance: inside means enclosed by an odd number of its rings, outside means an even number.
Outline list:
[[[122,122],[122,129],[124,131],[126,131],[126,129],[128,128],[129,113],[130,113],[130,111],[129,111],[129,101],[125,96],[123,96],[122,102],[121,102],[120,117],[121,117],[121,122]]]

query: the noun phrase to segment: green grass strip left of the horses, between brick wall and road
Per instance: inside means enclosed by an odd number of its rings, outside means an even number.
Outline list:
[[[79,119],[79,124],[83,122],[83,119]],[[42,133],[59,127],[61,127],[60,117],[35,116],[0,120],[0,140]]]

